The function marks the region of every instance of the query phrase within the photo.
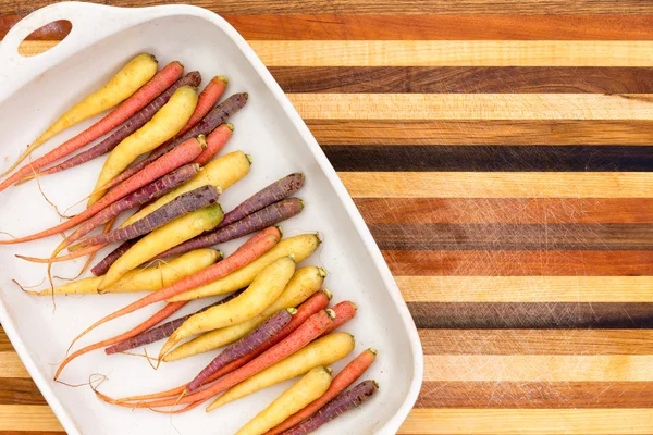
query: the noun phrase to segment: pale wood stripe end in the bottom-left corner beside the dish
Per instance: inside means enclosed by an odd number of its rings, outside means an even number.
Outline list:
[[[1,405],[0,431],[63,431],[48,406]]]

